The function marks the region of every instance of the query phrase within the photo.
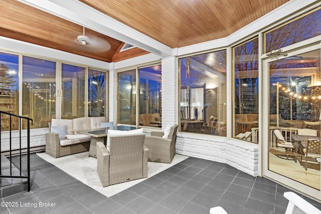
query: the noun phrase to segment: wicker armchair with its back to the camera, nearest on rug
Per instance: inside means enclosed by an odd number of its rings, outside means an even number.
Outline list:
[[[97,142],[97,173],[103,187],[147,177],[145,134],[110,136],[109,151]]]

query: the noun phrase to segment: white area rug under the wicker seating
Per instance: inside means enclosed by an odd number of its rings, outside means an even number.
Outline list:
[[[80,180],[84,184],[92,187],[100,193],[110,197],[122,190],[125,190],[145,179],[151,177],[167,168],[185,160],[188,156],[176,154],[172,163],[147,163],[147,178],[132,180],[124,183],[114,184],[107,187],[102,187],[100,179],[97,174],[97,159],[95,157],[88,157],[88,152],[82,152],[64,157],[54,158],[46,153],[37,153],[37,155],[49,163],[57,166],[67,174]]]

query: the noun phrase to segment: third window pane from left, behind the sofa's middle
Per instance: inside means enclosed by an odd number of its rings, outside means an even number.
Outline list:
[[[85,68],[62,64],[62,118],[85,116]]]

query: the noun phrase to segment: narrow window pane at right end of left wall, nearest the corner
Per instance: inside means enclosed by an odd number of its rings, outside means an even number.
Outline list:
[[[88,116],[106,115],[107,73],[94,69],[88,70]]]

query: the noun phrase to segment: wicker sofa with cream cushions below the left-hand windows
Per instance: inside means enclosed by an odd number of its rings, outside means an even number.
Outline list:
[[[89,150],[90,136],[77,134],[78,130],[100,128],[106,122],[105,117],[81,117],[74,119],[52,119],[49,132],[46,133],[46,153],[53,157],[61,157]],[[69,139],[59,137],[61,133],[52,132],[55,127],[67,126]],[[60,139],[59,139],[60,138]]]

